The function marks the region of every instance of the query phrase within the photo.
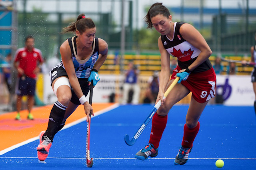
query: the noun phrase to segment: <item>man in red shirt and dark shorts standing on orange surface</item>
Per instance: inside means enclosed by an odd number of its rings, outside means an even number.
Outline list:
[[[19,62],[19,64],[18,64]],[[20,108],[22,96],[28,96],[28,119],[33,120],[31,110],[34,104],[35,83],[37,73],[39,73],[43,64],[42,53],[39,49],[34,48],[34,38],[28,36],[25,39],[25,47],[19,48],[15,53],[14,67],[18,71],[18,88],[17,88],[17,116],[20,120]]]

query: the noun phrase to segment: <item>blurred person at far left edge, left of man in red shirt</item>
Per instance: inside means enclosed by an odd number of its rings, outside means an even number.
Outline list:
[[[11,53],[9,53],[6,56],[6,59],[2,64],[2,68],[3,68],[4,82],[6,83],[6,86],[9,92],[11,93]]]

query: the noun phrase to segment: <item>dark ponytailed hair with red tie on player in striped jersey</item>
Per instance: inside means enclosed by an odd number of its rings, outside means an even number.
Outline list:
[[[95,28],[95,24],[91,18],[86,18],[85,14],[82,13],[78,15],[76,22],[71,22],[69,26],[63,28],[62,34],[68,33],[68,32],[74,32],[78,30],[80,33],[85,32],[88,28]]]

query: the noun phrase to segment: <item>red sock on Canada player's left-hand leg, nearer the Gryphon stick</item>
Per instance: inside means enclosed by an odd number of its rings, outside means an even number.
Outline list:
[[[153,144],[154,148],[158,148],[166,124],[167,115],[160,116],[157,113],[154,114],[152,118],[152,127],[149,139],[149,143]]]

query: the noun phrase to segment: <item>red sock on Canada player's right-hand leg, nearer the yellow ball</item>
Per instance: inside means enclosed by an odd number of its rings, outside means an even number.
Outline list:
[[[200,128],[199,122],[197,123],[197,126],[192,129],[188,128],[187,124],[184,125],[184,135],[181,143],[181,146],[183,148],[192,148],[194,139],[197,136],[199,128]]]

